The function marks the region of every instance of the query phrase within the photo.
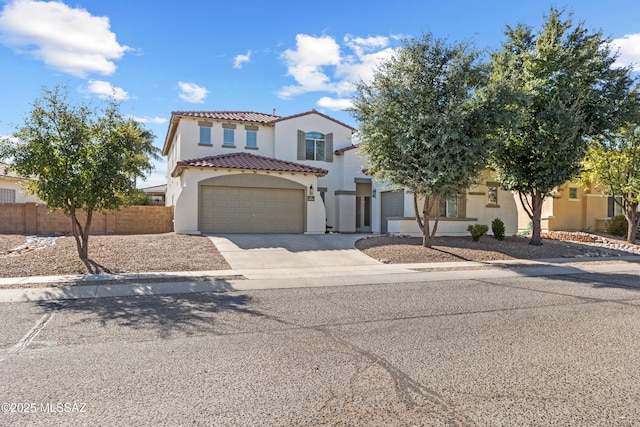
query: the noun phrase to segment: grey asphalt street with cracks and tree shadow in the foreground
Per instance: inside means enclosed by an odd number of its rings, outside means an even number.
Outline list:
[[[0,425],[640,425],[640,274],[0,304]]]

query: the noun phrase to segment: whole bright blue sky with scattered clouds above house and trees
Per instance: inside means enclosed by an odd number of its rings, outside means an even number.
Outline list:
[[[640,64],[638,0],[0,0],[0,136],[23,123],[43,86],[56,85],[75,101],[115,94],[158,147],[179,110],[315,108],[357,127],[342,111],[353,82],[402,37],[431,32],[498,49],[507,25],[538,29],[551,6],[613,38],[625,64]],[[163,159],[141,186],[165,174]]]

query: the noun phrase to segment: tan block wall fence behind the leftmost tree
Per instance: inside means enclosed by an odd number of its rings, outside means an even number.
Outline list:
[[[86,215],[81,212],[80,222]],[[159,234],[173,231],[172,206],[128,206],[119,211],[94,212],[90,234]],[[67,234],[71,219],[38,203],[0,203],[0,233]]]

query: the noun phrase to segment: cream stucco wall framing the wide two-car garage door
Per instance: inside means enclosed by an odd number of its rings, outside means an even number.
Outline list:
[[[322,234],[325,232],[325,210],[322,198],[317,193],[318,179],[316,175],[309,173],[292,172],[266,172],[266,171],[242,171],[237,169],[218,168],[188,168],[182,174],[174,178],[175,190],[172,194],[175,202],[174,227],[177,233],[200,234],[198,222],[199,216],[199,195],[202,183],[210,181],[212,178],[239,177],[242,175],[257,175],[268,180],[270,177],[277,177],[298,184],[301,188],[307,189],[306,200],[306,220],[304,232],[306,234]],[[309,188],[313,185],[314,194],[311,195]]]

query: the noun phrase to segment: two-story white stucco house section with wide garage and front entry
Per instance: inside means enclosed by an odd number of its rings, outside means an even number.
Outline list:
[[[162,154],[175,231],[371,231],[371,179],[354,131],[315,110],[173,112]]]

